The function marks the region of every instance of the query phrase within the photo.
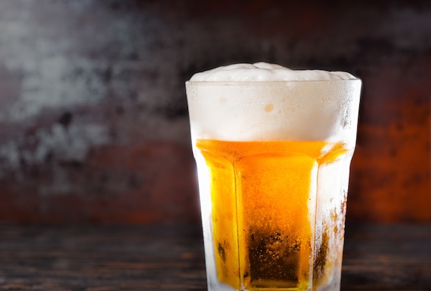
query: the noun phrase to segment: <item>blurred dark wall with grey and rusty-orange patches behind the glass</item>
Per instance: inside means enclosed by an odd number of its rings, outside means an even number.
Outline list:
[[[363,81],[348,222],[431,222],[431,1],[0,1],[0,222],[198,222],[185,81]]]

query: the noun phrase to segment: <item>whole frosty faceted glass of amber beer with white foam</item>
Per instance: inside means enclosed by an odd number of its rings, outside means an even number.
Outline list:
[[[208,289],[339,290],[361,80],[256,63],[186,89]]]

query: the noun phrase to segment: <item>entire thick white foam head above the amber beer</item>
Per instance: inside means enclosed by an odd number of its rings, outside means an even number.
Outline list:
[[[235,64],[186,83],[192,139],[352,140],[361,81],[346,72]]]

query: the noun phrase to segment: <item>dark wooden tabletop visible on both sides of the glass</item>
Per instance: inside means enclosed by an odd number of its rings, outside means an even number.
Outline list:
[[[206,290],[198,225],[0,225],[0,290]],[[431,290],[431,225],[347,226],[341,290]]]

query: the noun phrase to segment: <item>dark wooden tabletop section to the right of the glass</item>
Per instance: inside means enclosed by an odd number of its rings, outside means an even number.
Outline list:
[[[431,225],[347,226],[342,290],[431,290]]]

